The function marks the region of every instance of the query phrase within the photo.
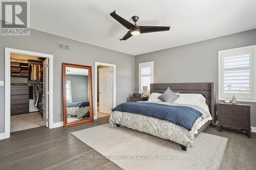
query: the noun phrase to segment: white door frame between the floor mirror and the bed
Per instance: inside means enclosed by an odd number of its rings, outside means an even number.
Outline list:
[[[109,64],[109,63],[101,63],[101,62],[95,62],[95,104],[94,104],[94,112],[95,112],[95,116],[94,119],[98,118],[98,110],[97,110],[97,66],[98,65],[103,65],[103,66],[109,66],[112,67],[113,70],[113,91],[112,91],[112,95],[113,95],[113,100],[112,100],[112,107],[116,107],[116,65],[115,64]]]

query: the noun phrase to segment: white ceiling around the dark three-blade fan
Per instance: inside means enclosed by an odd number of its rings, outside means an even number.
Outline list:
[[[31,2],[31,28],[139,55],[256,28],[255,0],[44,0]],[[139,26],[170,26],[119,41],[128,31],[112,11]],[[72,47],[71,47],[72,48]]]

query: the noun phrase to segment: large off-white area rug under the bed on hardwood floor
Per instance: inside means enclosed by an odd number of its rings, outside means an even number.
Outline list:
[[[228,140],[200,133],[197,147],[182,151],[175,142],[122,126],[104,124],[72,134],[122,169],[219,169]]]

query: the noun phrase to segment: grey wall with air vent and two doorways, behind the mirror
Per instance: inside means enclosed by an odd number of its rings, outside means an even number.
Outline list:
[[[58,50],[57,42],[70,45],[70,51]],[[126,102],[129,95],[134,92],[135,57],[132,55],[31,29],[30,36],[0,37],[0,80],[5,79],[5,47],[54,55],[54,123],[62,121],[61,64],[63,62],[92,66],[93,97],[95,96],[95,61],[116,64],[117,104]],[[4,89],[4,86],[0,86],[0,133],[4,132]]]

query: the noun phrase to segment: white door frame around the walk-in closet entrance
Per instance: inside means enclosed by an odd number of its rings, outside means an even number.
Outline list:
[[[11,53],[49,59],[49,128],[53,127],[53,55],[5,47],[5,137],[10,137],[11,124]]]

